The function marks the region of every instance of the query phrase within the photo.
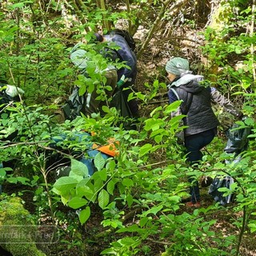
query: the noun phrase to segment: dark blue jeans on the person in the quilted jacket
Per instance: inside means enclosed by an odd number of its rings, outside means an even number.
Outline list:
[[[194,165],[202,160],[202,148],[210,144],[217,133],[217,128],[203,131],[200,134],[193,134],[185,137],[185,146],[187,159],[190,165]],[[193,203],[200,201],[200,192],[198,181],[195,181],[193,177],[189,178],[191,201]]]

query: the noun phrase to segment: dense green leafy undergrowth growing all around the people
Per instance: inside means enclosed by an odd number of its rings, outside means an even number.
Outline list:
[[[134,5],[139,3],[134,1]],[[2,4],[2,78],[22,87],[26,94],[22,102],[13,102],[5,109],[8,112],[1,112],[0,162],[8,167],[0,169],[0,174],[3,197],[22,197],[35,222],[57,226],[58,243],[46,243],[47,254],[253,253],[250,238],[256,231],[256,170],[254,52],[251,46],[255,35],[254,29],[250,34],[244,30],[245,24],[253,26],[254,13],[250,5],[243,6],[239,1],[222,5],[223,12],[218,18],[220,24],[224,18],[225,26],[222,25],[221,30],[208,27],[204,33],[207,44],[202,47],[209,65],[209,69],[204,70],[206,78],[213,85],[218,84],[247,117],[238,124],[252,128],[249,150],[235,163],[234,155],[223,152],[226,138],[220,136],[204,151],[206,154],[199,166],[186,163],[186,155],[181,154],[182,145],[175,136],[182,129],[178,126],[182,117],[170,119],[170,113],[180,102],[152,104],[159,92],[166,92],[161,69],[155,70],[154,79],[150,75],[142,80],[138,75],[140,92],[134,93],[134,97],[140,101],[142,118],[137,130],[125,130],[120,126],[123,120],[120,122],[117,110],[107,107],[104,118],[97,114],[91,118],[82,115],[72,122],[63,122],[59,113],[72,86],[77,84],[85,91],[95,84],[93,78],[86,81],[88,83],[77,79],[77,70],[68,58],[70,43],[78,41],[85,33],[84,37],[89,40],[97,26],[102,25],[102,17],[106,17],[108,10],[102,12],[89,2],[88,9],[83,10],[88,20],[84,23],[70,20],[72,26],[67,29],[63,17],[57,15],[61,6],[49,3],[50,9],[39,7],[26,1]],[[162,6],[155,2],[143,8],[161,10]],[[191,29],[196,24],[189,10],[186,13],[184,8],[181,9],[186,14],[183,25]],[[52,15],[53,10],[56,10],[55,15]],[[168,10],[166,8],[166,14]],[[233,10],[239,15],[234,15]],[[135,14],[135,10],[129,13],[134,15],[132,18]],[[127,15],[126,11],[112,13],[110,19]],[[179,26],[180,17],[178,14],[175,17],[170,20],[163,16],[162,24]],[[141,22],[150,29],[147,19]],[[160,29],[158,31],[162,31]],[[73,38],[67,38],[67,33]],[[172,33],[174,37],[175,32]],[[170,56],[184,54],[182,46],[170,52]],[[168,53],[162,56],[164,54]],[[97,54],[94,58],[96,60]],[[236,60],[241,64],[238,69],[234,69]],[[142,59],[139,62],[142,63]],[[209,73],[216,67],[220,72]],[[202,70],[202,66],[198,64],[197,69]],[[216,110],[216,114],[223,116],[220,110]],[[225,129],[224,121],[222,125]],[[223,135],[222,129],[220,135]],[[96,135],[87,135],[92,132]],[[14,133],[14,139],[6,141]],[[102,145],[109,138],[114,138],[119,154],[114,158],[96,154],[97,171],[88,177],[89,170],[78,162],[78,157],[86,156],[92,143]],[[71,166],[69,175],[57,177],[56,169],[66,165]],[[220,206],[202,189],[202,208],[187,210],[182,198],[188,196],[186,176],[189,174],[198,179],[214,178],[217,174],[232,176],[235,182],[225,192],[235,195],[234,202]]]

